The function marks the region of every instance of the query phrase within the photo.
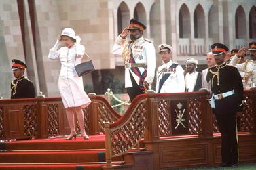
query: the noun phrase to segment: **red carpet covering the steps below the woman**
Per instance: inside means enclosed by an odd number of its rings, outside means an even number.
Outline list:
[[[105,135],[89,140],[51,138],[2,142],[0,169],[101,169],[105,165]],[[123,156],[113,158],[124,163]]]

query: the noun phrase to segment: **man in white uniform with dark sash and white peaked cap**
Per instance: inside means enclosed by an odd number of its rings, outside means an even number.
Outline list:
[[[184,72],[180,64],[172,62],[172,47],[158,46],[163,64],[156,71],[156,93],[179,93],[185,91]]]

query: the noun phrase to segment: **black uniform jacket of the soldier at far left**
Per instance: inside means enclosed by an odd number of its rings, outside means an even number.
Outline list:
[[[35,98],[35,87],[33,83],[22,76],[11,83],[11,99]]]

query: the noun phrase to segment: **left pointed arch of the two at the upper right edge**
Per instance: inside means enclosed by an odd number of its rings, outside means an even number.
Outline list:
[[[235,14],[236,39],[246,38],[246,16],[244,8],[240,5]]]

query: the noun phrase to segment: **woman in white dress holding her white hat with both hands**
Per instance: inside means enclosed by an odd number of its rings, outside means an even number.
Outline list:
[[[71,133],[66,140],[71,140],[72,138],[76,139],[77,137],[74,112],[77,114],[81,136],[84,140],[89,139],[84,129],[84,112],[82,108],[88,106],[91,100],[84,91],[82,77],[78,77],[77,72],[75,71],[75,65],[81,63],[85,51],[84,46],[80,44],[80,41],[80,37],[75,36],[75,31],[72,28],[65,28],[62,30],[54,47],[50,49],[48,55],[48,58],[58,59],[61,63],[58,88],[60,89],[60,95],[71,129]],[[65,45],[65,47],[60,47],[62,45]]]

